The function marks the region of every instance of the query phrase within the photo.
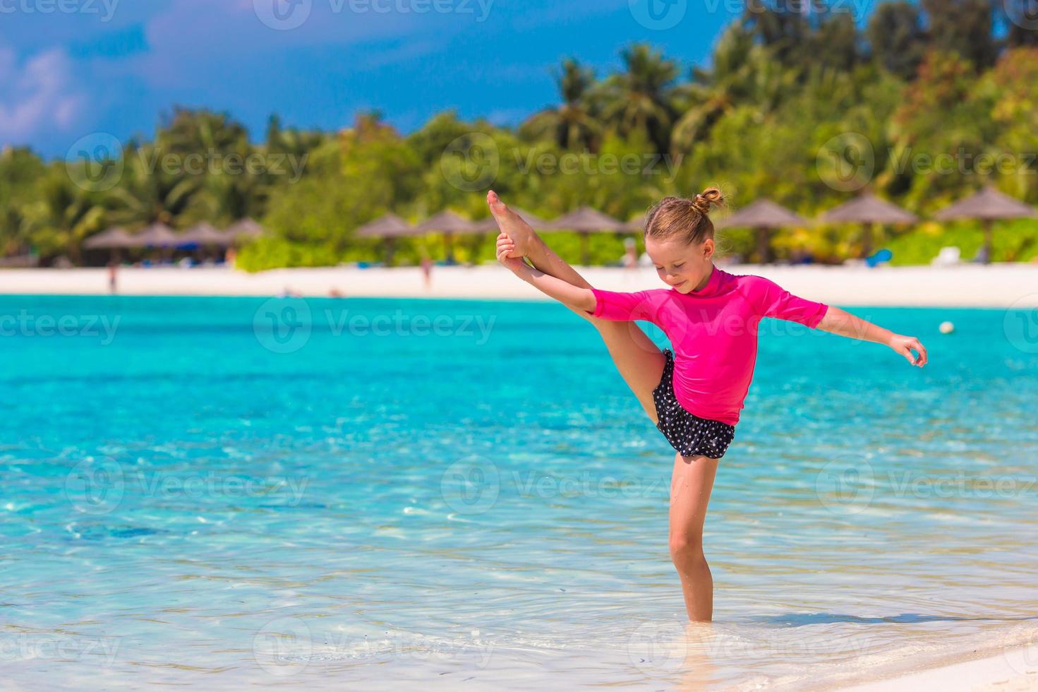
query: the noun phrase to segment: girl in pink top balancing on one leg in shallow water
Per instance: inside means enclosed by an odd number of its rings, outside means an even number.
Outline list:
[[[703,525],[717,460],[735,436],[753,379],[761,319],[791,320],[883,344],[919,367],[927,363],[926,348],[914,337],[797,297],[762,276],[730,274],[714,266],[709,212],[723,203],[716,188],[691,199],[665,197],[649,211],[646,250],[668,288],[633,293],[593,288],[496,193],[490,191],[487,202],[501,231],[497,260],[598,329],[620,374],[675,449],[671,557],[689,619],[711,620],[713,578],[703,554]],[[633,320],[659,326],[673,351],[661,351]]]

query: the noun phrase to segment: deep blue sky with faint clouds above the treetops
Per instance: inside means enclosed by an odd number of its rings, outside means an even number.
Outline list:
[[[151,136],[173,105],[334,130],[377,108],[514,124],[557,101],[551,70],[600,73],[649,42],[709,58],[736,0],[0,0],[0,143],[64,156],[80,137]],[[674,25],[674,26],[668,26]]]

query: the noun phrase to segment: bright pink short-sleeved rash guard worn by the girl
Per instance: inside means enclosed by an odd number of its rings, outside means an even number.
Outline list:
[[[729,425],[739,422],[757,362],[763,317],[817,327],[828,305],[798,298],[762,276],[714,267],[702,291],[651,289],[614,293],[592,289],[595,317],[646,320],[674,347],[674,394],[688,412]]]

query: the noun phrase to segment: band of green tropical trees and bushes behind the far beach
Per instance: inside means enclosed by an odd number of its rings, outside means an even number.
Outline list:
[[[45,161],[6,148],[0,256],[97,263],[104,256],[83,243],[112,225],[223,228],[252,217],[269,233],[242,248],[246,269],[372,262],[382,243],[357,237],[361,224],[390,211],[411,222],[445,209],[482,219],[491,187],[546,219],[583,205],[635,219],[664,195],[708,185],[733,207],[768,197],[804,218],[862,189],[924,219],[985,184],[1034,205],[1038,31],[1011,21],[1027,2],[885,2],[858,26],[849,14],[754,0],[718,36],[709,66],[644,44],[620,51],[614,74],[566,59],[554,75],[558,104],[514,128],[445,112],[402,134],[365,112],[340,131],[309,132],[273,116],[257,140],[229,114],[179,108],[152,141],[121,143],[110,185],[83,181],[113,161]],[[968,221],[878,233],[902,264],[927,263],[945,245],[968,258],[982,239]],[[491,238],[458,238],[455,256],[491,261]],[[1036,221],[998,223],[994,238],[996,261],[1038,257]],[[575,234],[550,242],[579,259]],[[749,230],[725,231],[721,243],[753,256]],[[862,229],[846,224],[772,236],[781,260],[840,262],[861,243]],[[591,250],[593,262],[614,262],[623,237],[596,234]],[[437,234],[400,238],[393,261],[444,251]]]

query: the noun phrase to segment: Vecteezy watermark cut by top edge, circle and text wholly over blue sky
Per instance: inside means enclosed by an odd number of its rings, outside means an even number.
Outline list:
[[[315,4],[331,15],[462,15],[483,23],[494,0],[252,0],[256,18],[277,31],[298,29],[313,14]]]

